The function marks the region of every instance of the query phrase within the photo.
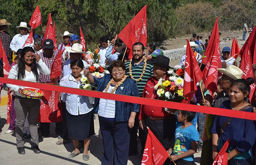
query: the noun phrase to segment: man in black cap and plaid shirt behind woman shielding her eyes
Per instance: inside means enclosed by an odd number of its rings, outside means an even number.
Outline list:
[[[43,52],[41,54],[39,54],[39,56],[50,70],[52,68],[52,63],[55,60],[57,54],[58,54],[58,51],[54,51],[53,41],[51,39],[44,40]],[[64,63],[65,63],[64,59],[61,58],[61,67],[62,68],[64,66]],[[52,81],[50,79],[50,74],[49,75],[40,74],[39,80],[40,80],[40,83],[52,83]],[[55,84],[57,85],[57,82],[55,82]],[[41,122],[40,127],[41,127],[41,133],[42,133],[41,137],[47,137],[50,134],[50,131],[49,131],[50,123],[49,122]],[[61,138],[60,136],[62,135],[62,132],[63,132],[62,129],[63,129],[62,122],[56,122],[55,132],[56,132],[58,138]]]

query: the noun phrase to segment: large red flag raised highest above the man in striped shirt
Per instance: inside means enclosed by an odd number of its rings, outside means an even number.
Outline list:
[[[136,42],[141,42],[144,46],[147,45],[147,6],[145,5],[137,15],[122,29],[118,37],[128,45],[130,34],[133,26],[135,26]]]

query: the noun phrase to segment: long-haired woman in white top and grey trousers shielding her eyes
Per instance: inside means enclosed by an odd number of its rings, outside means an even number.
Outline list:
[[[25,47],[21,51],[19,63],[12,66],[8,78],[30,82],[39,82],[40,73],[50,74],[50,70],[31,47]],[[12,84],[7,84],[7,86],[12,91],[15,91],[16,94],[14,100],[14,108],[16,112],[15,136],[18,153],[25,154],[23,129],[26,115],[28,113],[31,146],[33,151],[38,154],[41,151],[38,148],[38,128],[36,122],[40,110],[40,100],[28,99],[21,95],[21,90],[23,88],[29,87]]]

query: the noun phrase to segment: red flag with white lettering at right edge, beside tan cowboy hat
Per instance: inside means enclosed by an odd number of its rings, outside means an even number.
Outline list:
[[[242,75],[242,78],[246,79],[248,77],[251,77],[254,79],[253,75],[253,65],[252,65],[252,56],[250,54],[250,43],[246,42],[245,49],[243,51],[243,54],[241,54],[241,62],[239,65],[239,68],[244,71],[244,74]],[[250,102],[253,102],[255,100],[255,84],[250,85],[250,95],[249,95]]]

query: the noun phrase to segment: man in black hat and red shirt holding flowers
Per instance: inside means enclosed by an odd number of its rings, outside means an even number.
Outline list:
[[[167,71],[171,68],[169,67],[169,61],[170,59],[165,56],[155,58],[152,63],[154,65],[154,76],[150,77],[146,83],[143,97],[158,99],[154,86],[160,78],[166,78]],[[146,127],[149,127],[166,150],[174,145],[176,128],[174,114],[169,114],[163,107],[141,105],[139,120],[140,128],[144,129],[145,132],[145,139],[148,134]]]

